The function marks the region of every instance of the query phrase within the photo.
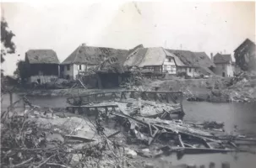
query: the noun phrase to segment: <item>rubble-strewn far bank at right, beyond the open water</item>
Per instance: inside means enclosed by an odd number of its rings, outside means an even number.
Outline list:
[[[153,81],[159,90],[182,91],[189,101],[256,102],[256,76]]]

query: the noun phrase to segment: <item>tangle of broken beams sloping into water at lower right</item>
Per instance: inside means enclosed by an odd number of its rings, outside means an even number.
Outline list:
[[[156,124],[157,122],[153,123],[152,121],[146,121],[147,119],[141,119],[141,118],[133,118],[131,116],[128,116],[123,113],[111,113],[114,116],[117,116],[118,118],[125,118],[126,121],[129,122],[135,122],[140,125],[139,127],[147,128],[148,131],[145,134],[149,134],[150,138],[148,141],[148,145],[150,145],[152,142],[158,140],[161,137],[161,134],[172,134],[174,137],[177,137],[177,146],[169,147],[170,151],[172,152],[183,152],[184,154],[204,154],[204,153],[227,153],[227,152],[248,152],[246,150],[240,150],[236,144],[236,142],[231,142],[230,140],[223,140],[219,139],[217,136],[208,135],[208,134],[200,134],[200,131],[197,129],[194,129],[193,134],[189,133],[188,131],[172,128],[172,126],[168,124]],[[151,119],[153,120],[153,119]],[[168,121],[169,122],[169,121]],[[174,122],[173,122],[174,123]],[[183,123],[180,123],[183,124]],[[155,130],[154,134],[152,129]],[[205,130],[206,131],[206,130]],[[207,132],[206,132],[207,133]],[[216,132],[216,134],[222,134],[223,136],[226,135],[224,133]],[[231,135],[226,135],[231,136]],[[193,139],[189,138],[192,137]],[[175,138],[174,138],[175,139]],[[189,140],[187,140],[189,139]],[[202,147],[196,147],[193,144],[188,144],[187,141],[194,141],[197,144],[203,144],[204,148]],[[242,139],[241,139],[242,140]],[[253,140],[253,139],[250,139]],[[185,142],[186,141],[186,142]],[[256,139],[254,139],[256,142]],[[220,144],[221,147],[213,147],[210,143]]]

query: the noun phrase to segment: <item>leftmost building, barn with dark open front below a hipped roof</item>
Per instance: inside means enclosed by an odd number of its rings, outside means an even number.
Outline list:
[[[25,64],[29,68],[29,81],[40,84],[55,81],[59,74],[59,60],[54,50],[28,50]]]

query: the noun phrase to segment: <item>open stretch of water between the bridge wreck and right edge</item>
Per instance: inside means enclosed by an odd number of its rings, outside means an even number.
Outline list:
[[[256,103],[210,103],[183,101],[185,121],[225,123],[226,132],[256,135]]]

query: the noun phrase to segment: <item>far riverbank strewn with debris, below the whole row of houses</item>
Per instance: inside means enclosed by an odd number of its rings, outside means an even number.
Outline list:
[[[113,89],[17,89],[15,92],[27,96],[70,97],[102,91],[117,91]],[[242,74],[237,77],[215,76],[208,79],[183,79],[173,76],[169,80],[144,79],[140,86],[130,86],[128,89],[142,91],[182,91],[189,101],[204,102],[256,102],[256,75]]]

